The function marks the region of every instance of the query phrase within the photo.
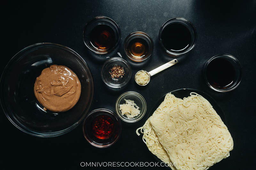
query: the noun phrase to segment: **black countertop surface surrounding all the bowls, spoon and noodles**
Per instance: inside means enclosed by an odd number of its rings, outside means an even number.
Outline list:
[[[81,125],[71,132],[53,138],[27,135],[6,118],[1,109],[2,169],[89,169],[81,162],[156,162],[135,130],[146,121],[156,100],[165,93],[181,88],[197,89],[211,95],[225,113],[226,125],[234,140],[230,157],[210,169],[252,169],[255,153],[255,68],[256,63],[256,1],[33,1],[20,4],[2,2],[7,9],[2,17],[1,73],[18,51],[37,42],[65,45],[81,55],[89,65],[94,80],[94,100],[90,110],[107,108],[115,111],[116,99],[127,91],[139,92],[147,102],[146,115],[136,123],[122,121],[122,134],[116,144],[99,149],[83,136]],[[124,88],[114,90],[100,78],[102,61],[88,52],[82,32],[86,22],[95,16],[107,16],[121,29],[117,49],[131,64],[132,78]],[[186,59],[151,78],[145,87],[133,78],[138,70],[152,70],[168,61],[158,43],[161,25],[169,18],[183,17],[197,30],[195,48]],[[141,64],[130,61],[123,50],[125,37],[134,31],[148,33],[154,40],[154,52]],[[234,55],[243,67],[241,84],[231,92],[215,92],[205,83],[204,63],[214,55]],[[111,53],[110,56],[117,56]],[[102,58],[106,57],[104,55]],[[100,167],[91,167],[99,169]],[[102,169],[163,169],[160,167],[101,167]]]

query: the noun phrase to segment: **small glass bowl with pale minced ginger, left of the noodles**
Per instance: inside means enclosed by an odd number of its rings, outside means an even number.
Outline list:
[[[147,104],[137,92],[125,92],[116,100],[116,113],[124,122],[137,122],[146,113]]]

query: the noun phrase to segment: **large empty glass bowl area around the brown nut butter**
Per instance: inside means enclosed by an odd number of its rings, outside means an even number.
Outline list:
[[[53,64],[73,70],[81,83],[81,95],[70,110],[55,113],[38,102],[34,83],[42,70]],[[9,120],[20,130],[39,137],[65,134],[82,122],[93,99],[92,74],[73,50],[52,43],[38,43],[22,49],[7,64],[1,77],[1,105]]]

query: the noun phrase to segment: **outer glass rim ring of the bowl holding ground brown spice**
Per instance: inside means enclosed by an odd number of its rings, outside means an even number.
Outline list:
[[[110,63],[110,62],[115,62],[116,60],[121,60],[120,62],[124,63],[127,67],[128,67],[128,70],[130,71],[129,72],[129,75],[128,75],[128,78],[127,78],[127,81],[125,81],[123,84],[119,84],[119,85],[110,85],[104,78],[104,75],[103,75],[103,69],[105,68],[105,66]],[[101,68],[101,72],[100,72],[100,75],[101,75],[101,79],[103,80],[103,82],[108,85],[109,87],[112,87],[112,88],[120,88],[120,87],[123,87],[125,86],[131,79],[132,77],[132,68],[130,66],[130,64],[124,60],[123,58],[121,57],[111,57],[109,58],[107,61],[105,61],[105,63],[102,65],[102,68]]]

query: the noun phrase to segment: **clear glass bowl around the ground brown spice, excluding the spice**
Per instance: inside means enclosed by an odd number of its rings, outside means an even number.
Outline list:
[[[119,65],[124,69],[124,76],[122,78],[111,78],[110,71],[113,66]],[[126,85],[132,77],[132,69],[129,63],[127,63],[121,57],[113,57],[108,59],[102,66],[101,78],[103,82],[112,88],[120,88]]]

